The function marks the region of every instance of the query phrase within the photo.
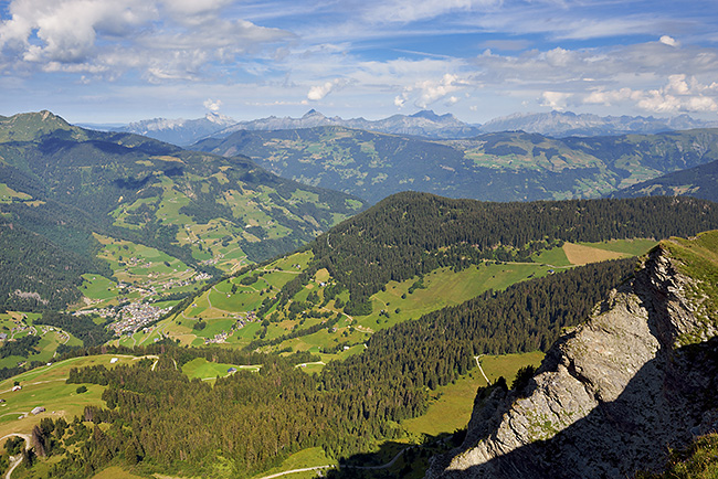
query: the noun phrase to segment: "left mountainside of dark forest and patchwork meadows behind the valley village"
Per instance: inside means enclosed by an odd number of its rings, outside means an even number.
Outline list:
[[[112,276],[97,259],[95,234],[217,275],[293,251],[363,207],[245,158],[85,130],[49,111],[0,121],[0,178],[3,242],[13,245],[2,252],[0,307],[12,308],[27,307],[28,298],[64,306],[78,298],[78,273]],[[20,246],[23,234],[29,240]],[[43,286],[45,273],[54,286]]]

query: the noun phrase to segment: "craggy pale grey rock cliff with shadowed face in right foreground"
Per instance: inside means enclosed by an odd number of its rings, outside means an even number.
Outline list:
[[[718,232],[657,246],[426,478],[625,478],[718,426]]]

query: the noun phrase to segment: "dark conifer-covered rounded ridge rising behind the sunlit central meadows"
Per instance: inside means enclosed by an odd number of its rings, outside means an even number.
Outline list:
[[[279,300],[327,268],[350,292],[347,313],[366,315],[369,297],[388,281],[437,267],[531,262],[562,242],[690,236],[715,227],[718,205],[690,198],[485,203],[400,193],[317,237],[312,265]]]

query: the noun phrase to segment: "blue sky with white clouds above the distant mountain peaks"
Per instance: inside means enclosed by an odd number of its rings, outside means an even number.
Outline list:
[[[0,115],[718,120],[716,0],[0,1]]]

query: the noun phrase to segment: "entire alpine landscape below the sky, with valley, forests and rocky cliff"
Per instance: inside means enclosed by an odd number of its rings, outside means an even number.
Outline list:
[[[410,118],[0,117],[0,472],[715,475],[718,130]]]

